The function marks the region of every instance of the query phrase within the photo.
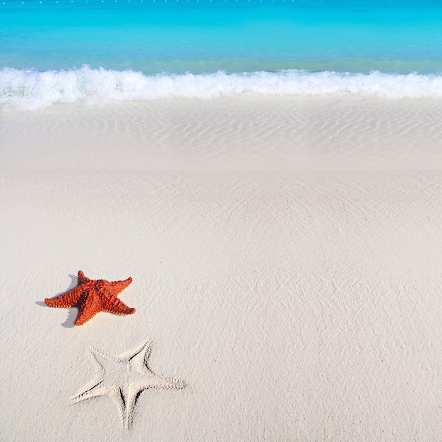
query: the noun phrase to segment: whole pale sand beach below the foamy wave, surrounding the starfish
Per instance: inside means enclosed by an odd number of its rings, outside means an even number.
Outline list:
[[[1,113],[0,439],[440,441],[441,121],[356,95]],[[136,313],[45,306],[78,270],[131,276]],[[184,388],[141,390],[129,429],[70,402],[91,347],[145,342]]]

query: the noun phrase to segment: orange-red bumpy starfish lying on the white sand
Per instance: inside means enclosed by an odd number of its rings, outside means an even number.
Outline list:
[[[57,298],[46,298],[44,302],[51,307],[78,306],[80,312],[76,325],[82,325],[93,318],[99,311],[109,311],[120,315],[131,315],[135,309],[126,306],[117,296],[132,282],[129,277],[124,281],[109,282],[106,280],[90,280],[85,274],[78,271],[78,287],[69,290]]]

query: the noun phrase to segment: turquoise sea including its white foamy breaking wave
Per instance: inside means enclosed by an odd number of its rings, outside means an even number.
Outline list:
[[[442,97],[442,4],[0,0],[0,105],[350,92]]]

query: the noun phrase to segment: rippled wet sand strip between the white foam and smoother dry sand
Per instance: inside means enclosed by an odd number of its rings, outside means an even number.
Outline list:
[[[0,114],[0,167],[438,170],[440,121],[439,100],[342,95],[59,105]]]

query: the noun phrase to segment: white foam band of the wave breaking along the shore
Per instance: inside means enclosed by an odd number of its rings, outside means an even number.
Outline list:
[[[324,95],[352,93],[393,99],[442,97],[442,76],[374,71],[363,73],[287,70],[144,76],[136,71],[81,68],[69,71],[0,69],[0,107],[34,110],[56,103],[99,103],[220,95]]]

